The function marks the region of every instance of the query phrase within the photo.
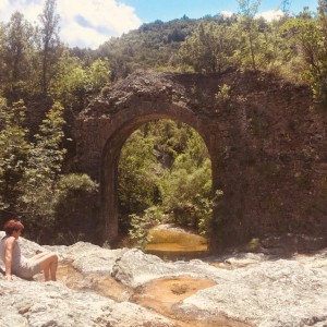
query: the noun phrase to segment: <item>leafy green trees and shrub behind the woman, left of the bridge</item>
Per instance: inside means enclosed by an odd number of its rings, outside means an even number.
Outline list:
[[[33,238],[40,238],[50,228],[57,232],[64,228],[74,235],[76,217],[85,219],[83,204],[97,190],[87,175],[62,174],[62,113],[63,108],[55,104],[39,133],[29,141],[28,130],[23,128],[23,102],[8,106],[3,98],[0,100],[0,211],[33,226],[28,229]]]

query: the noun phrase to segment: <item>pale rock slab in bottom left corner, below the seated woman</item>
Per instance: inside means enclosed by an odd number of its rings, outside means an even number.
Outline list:
[[[173,326],[167,318],[136,304],[76,292],[60,282],[0,280],[0,326]]]

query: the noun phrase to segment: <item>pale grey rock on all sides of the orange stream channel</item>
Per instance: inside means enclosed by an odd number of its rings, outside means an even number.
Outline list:
[[[1,235],[1,234],[0,234]],[[208,320],[223,315],[259,327],[327,326],[327,251],[277,259],[261,254],[220,257],[233,269],[195,259],[164,262],[135,249],[107,250],[78,242],[39,246],[20,240],[24,255],[56,251],[82,276],[110,276],[131,289],[149,281],[189,276],[217,284],[174,304],[178,313]],[[215,259],[213,259],[215,262]],[[216,261],[217,262],[217,261]],[[3,267],[3,266],[2,266]],[[87,286],[87,283],[86,283]],[[13,281],[0,278],[0,326],[173,326],[167,318],[130,302],[116,302],[85,288],[73,291],[62,282]]]

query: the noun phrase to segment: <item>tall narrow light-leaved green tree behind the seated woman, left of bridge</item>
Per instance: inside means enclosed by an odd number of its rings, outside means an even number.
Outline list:
[[[40,125],[35,143],[31,144],[24,175],[20,181],[23,194],[20,198],[21,211],[35,227],[53,223],[57,180],[61,173],[65,149],[63,141],[62,107],[55,104]],[[38,232],[41,232],[38,229]]]

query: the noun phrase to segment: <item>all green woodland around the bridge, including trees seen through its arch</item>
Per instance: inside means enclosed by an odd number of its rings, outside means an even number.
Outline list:
[[[47,225],[58,231],[53,242],[62,241],[62,225],[71,230],[65,242],[83,238],[74,226],[97,182],[74,173],[74,119],[136,69],[203,74],[231,65],[263,70],[308,84],[316,104],[326,108],[327,1],[318,1],[315,12],[304,8],[294,16],[283,0],[282,17],[271,22],[256,16],[259,1],[238,2],[239,13],[230,17],[218,13],[156,21],[96,50],[62,44],[56,0],[46,1],[37,24],[20,12],[9,23],[0,22],[1,219],[21,217],[39,238]],[[137,216],[154,205],[160,213],[191,208],[189,218],[179,216],[180,222],[207,230],[207,222],[199,223],[213,205],[203,147],[195,132],[173,122],[148,124],[133,134],[120,161],[121,211]],[[189,184],[186,175],[194,178]],[[129,183],[133,179],[137,181]],[[195,180],[197,193],[177,191]]]

